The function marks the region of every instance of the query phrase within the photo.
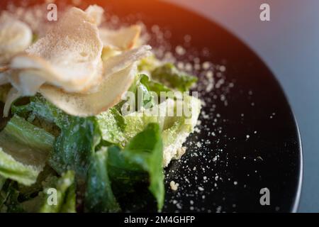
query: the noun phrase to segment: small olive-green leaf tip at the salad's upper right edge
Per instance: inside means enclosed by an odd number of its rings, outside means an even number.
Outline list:
[[[177,70],[177,67],[167,63],[157,67],[152,71],[152,79],[163,84],[167,84],[172,89],[177,89],[180,92],[187,92],[191,86],[197,82],[197,77],[186,74]]]

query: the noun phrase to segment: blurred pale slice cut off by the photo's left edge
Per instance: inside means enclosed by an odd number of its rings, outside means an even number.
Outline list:
[[[0,65],[9,62],[13,55],[26,50],[32,42],[32,31],[21,21],[6,14],[0,17]]]

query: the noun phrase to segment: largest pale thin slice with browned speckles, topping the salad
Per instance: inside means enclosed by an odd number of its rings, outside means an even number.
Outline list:
[[[81,9],[72,8],[25,54],[13,57],[10,67],[37,70],[37,75],[48,84],[66,92],[80,92],[90,82],[101,79],[97,72],[101,68],[102,48],[94,19]]]

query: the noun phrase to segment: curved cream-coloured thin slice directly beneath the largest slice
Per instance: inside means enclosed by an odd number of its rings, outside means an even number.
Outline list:
[[[121,101],[121,97],[128,91],[137,73],[137,65],[130,65],[106,77],[99,86],[99,90],[92,94],[66,93],[48,85],[43,85],[40,93],[67,114],[95,116]]]

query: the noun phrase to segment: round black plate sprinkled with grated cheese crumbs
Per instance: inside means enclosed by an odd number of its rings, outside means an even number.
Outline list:
[[[82,7],[89,3],[105,7],[122,23],[142,21],[149,31],[154,25],[170,31],[165,33],[170,37],[166,49],[185,44],[185,38],[189,39],[185,35],[191,35],[188,54],[177,58],[189,61],[189,56],[197,56],[201,62],[213,62],[220,87],[206,92],[206,76],[196,72],[200,96],[206,101],[200,132],[187,141],[186,155],[167,167],[163,211],[296,211],[301,140],[284,92],[264,62],[216,23],[178,6],[154,0],[112,0],[84,1]],[[160,41],[153,37],[150,43],[156,47]],[[225,72],[220,72],[224,69],[219,65],[225,65]],[[176,192],[169,187],[172,180],[179,184]],[[260,189],[265,187],[270,192],[269,206],[259,202]]]

